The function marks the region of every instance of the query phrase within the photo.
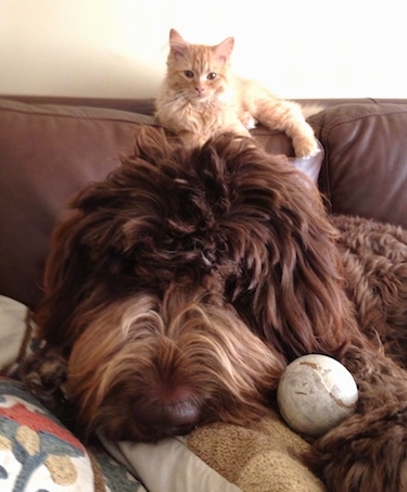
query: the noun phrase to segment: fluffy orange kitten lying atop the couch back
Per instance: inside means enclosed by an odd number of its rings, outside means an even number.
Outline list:
[[[250,135],[249,129],[260,123],[284,131],[297,156],[316,154],[318,144],[300,104],[278,99],[255,80],[231,72],[233,43],[227,38],[216,46],[191,45],[170,29],[157,122],[193,146],[220,131]]]

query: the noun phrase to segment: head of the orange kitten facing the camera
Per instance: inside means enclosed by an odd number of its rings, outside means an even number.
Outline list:
[[[230,55],[234,39],[216,46],[191,45],[175,29],[169,31],[166,83],[191,101],[208,101],[228,88]]]

